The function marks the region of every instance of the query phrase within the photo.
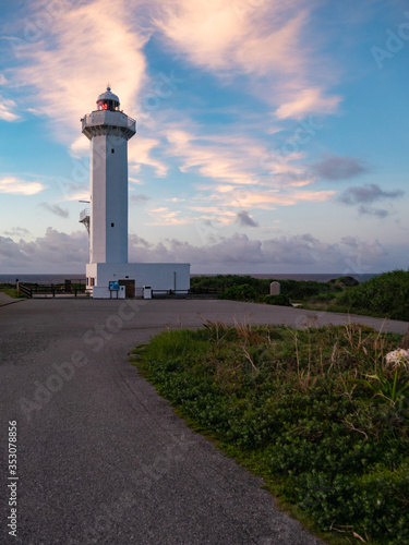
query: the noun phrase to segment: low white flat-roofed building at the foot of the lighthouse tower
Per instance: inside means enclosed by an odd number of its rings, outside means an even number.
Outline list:
[[[86,283],[94,299],[142,298],[144,288],[151,288],[154,295],[155,292],[183,294],[190,289],[190,264],[89,263]]]

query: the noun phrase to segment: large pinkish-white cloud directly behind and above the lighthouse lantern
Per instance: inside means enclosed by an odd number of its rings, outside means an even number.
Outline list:
[[[37,2],[33,20],[44,7]],[[79,133],[80,118],[95,105],[107,82],[129,108],[143,85],[146,62],[142,48],[147,36],[131,27],[130,8],[118,0],[77,2],[55,17],[40,38],[24,48],[11,71],[14,85],[25,86],[36,109],[64,131]],[[95,106],[96,107],[96,106]]]

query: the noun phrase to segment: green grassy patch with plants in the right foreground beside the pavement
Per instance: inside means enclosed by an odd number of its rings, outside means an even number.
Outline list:
[[[409,543],[409,371],[401,336],[206,323],[139,347],[135,365],[195,429],[262,475],[333,544]]]

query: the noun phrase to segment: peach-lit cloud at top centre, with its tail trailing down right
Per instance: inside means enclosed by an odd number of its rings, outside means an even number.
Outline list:
[[[169,47],[225,80],[251,75],[251,85],[242,84],[275,106],[278,118],[337,111],[341,97],[327,95],[329,71],[311,75],[312,66],[325,62],[308,32],[314,2],[258,0],[244,2],[244,9],[242,0],[161,4],[155,23]]]

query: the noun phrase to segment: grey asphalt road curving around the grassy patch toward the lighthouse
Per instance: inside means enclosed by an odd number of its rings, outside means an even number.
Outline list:
[[[128,351],[155,332],[200,327],[204,319],[303,327],[348,317],[229,301],[27,300],[1,306],[1,543],[322,543],[276,508],[260,479],[189,431],[128,363]],[[407,326],[387,324],[400,332]],[[17,537],[5,528],[13,420]]]

